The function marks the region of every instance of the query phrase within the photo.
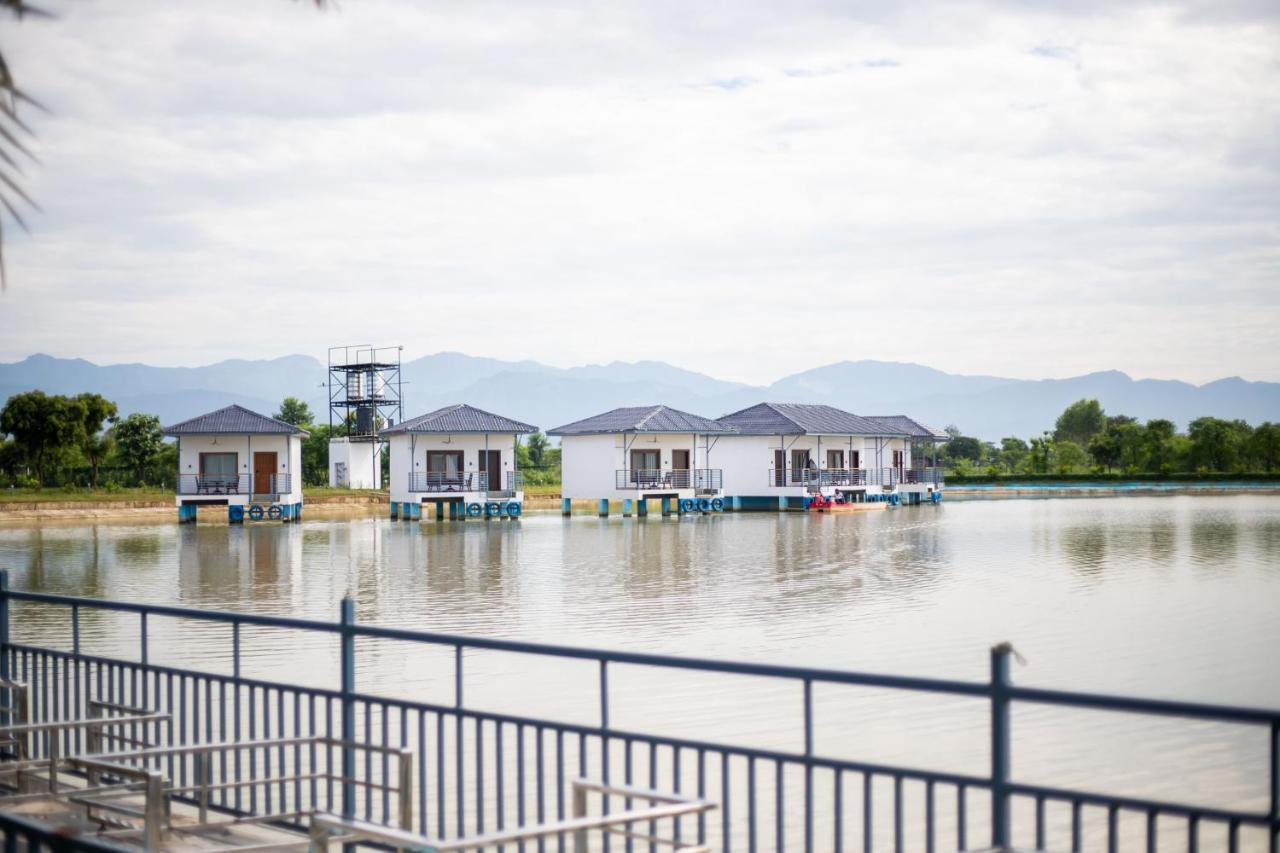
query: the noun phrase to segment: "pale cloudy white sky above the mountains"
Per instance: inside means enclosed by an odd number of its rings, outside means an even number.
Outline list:
[[[46,0],[0,360],[1280,379],[1280,6]]]

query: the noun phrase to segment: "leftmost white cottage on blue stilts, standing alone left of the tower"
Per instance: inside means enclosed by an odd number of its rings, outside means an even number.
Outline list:
[[[227,406],[164,430],[178,439],[178,521],[225,506],[230,523],[302,517],[307,432],[243,406]]]

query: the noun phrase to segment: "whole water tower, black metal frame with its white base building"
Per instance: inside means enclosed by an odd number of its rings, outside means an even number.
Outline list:
[[[403,347],[329,347],[329,485],[381,487],[381,430],[401,420]]]

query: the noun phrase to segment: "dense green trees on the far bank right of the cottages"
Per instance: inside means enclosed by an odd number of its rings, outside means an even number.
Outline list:
[[[941,460],[957,475],[986,474],[1271,474],[1280,470],[1280,424],[1197,418],[1179,432],[1171,420],[1108,415],[1097,400],[1068,406],[1052,430],[998,444],[963,435]]]

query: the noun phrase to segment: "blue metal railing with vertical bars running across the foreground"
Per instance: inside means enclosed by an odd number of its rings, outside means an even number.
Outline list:
[[[10,642],[12,602],[31,602],[65,611],[70,651]],[[79,638],[79,622],[86,611],[136,615],[140,630],[137,660],[86,654]],[[147,624],[152,617],[229,625],[230,674],[151,663]],[[47,630],[47,619],[42,617],[41,624]],[[246,626],[333,637],[340,660],[337,686],[315,688],[244,678],[241,672],[241,633]],[[357,639],[364,638],[451,648],[453,703],[416,702],[358,690],[356,646]],[[465,702],[463,652],[472,649],[593,662],[598,679],[596,721],[567,722],[468,707]],[[1137,815],[1146,821],[1143,843],[1148,850],[1157,849],[1170,838],[1169,821],[1172,820],[1180,822],[1180,830],[1172,830],[1179,833],[1179,849],[1194,852],[1204,844],[1235,853],[1240,849],[1242,829],[1248,827],[1261,834],[1266,839],[1266,849],[1275,853],[1280,839],[1280,711],[1019,686],[1009,678],[1010,654],[1007,644],[995,647],[991,651],[989,679],[960,681],[361,625],[356,622],[355,606],[349,599],[342,602],[339,621],[328,622],[19,592],[8,589],[6,573],[0,573],[0,678],[28,684],[35,698],[31,708],[33,721],[72,717],[82,712],[92,698],[168,711],[173,715],[166,733],[172,744],[232,738],[330,736],[410,749],[415,753],[413,768],[417,774],[412,825],[424,834],[467,836],[486,829],[563,820],[568,808],[566,790],[572,777],[616,780],[621,775],[623,784],[648,783],[655,788],[662,780],[669,780],[667,784],[676,792],[682,785],[692,786],[696,790],[690,793],[696,797],[717,800],[721,809],[717,817],[709,820],[700,815],[689,818],[686,826],[677,822],[675,831],[677,838],[684,833],[685,840],[696,839],[724,850],[841,850],[849,840],[849,829],[859,826],[860,847],[869,852],[877,848],[876,839],[883,838],[877,836],[876,829],[882,820],[891,825],[888,836],[896,853],[906,848],[909,836],[913,847],[919,841],[927,853],[1015,845],[1080,850],[1087,839],[1105,840],[1108,850],[1116,850],[1121,843],[1120,818],[1128,822]],[[617,666],[753,676],[795,684],[801,698],[803,745],[795,751],[765,749],[614,726],[611,721],[613,695],[609,674],[611,667]],[[989,772],[978,775],[901,767],[819,752],[815,748],[813,693],[815,685],[827,684],[945,694],[984,702],[989,708]],[[1019,781],[1011,774],[1010,708],[1015,703],[1256,726],[1267,738],[1270,807],[1249,811]],[[72,745],[64,744],[68,749]],[[357,758],[344,754],[342,761],[342,777],[353,779],[355,771],[361,770],[355,766]],[[376,758],[365,754],[362,761],[366,780],[387,777],[388,768],[379,770]],[[186,784],[195,770],[179,757],[168,772]],[[259,771],[250,760],[247,765],[223,766],[220,772],[243,780],[246,775],[255,777]],[[818,790],[818,774],[822,776],[822,792]],[[799,784],[792,780],[799,780]],[[923,793],[923,826],[909,829],[905,825],[905,784],[910,784],[913,792],[923,786],[919,792]],[[265,786],[268,798],[273,788],[274,783]],[[877,794],[882,795],[886,788],[892,792],[888,806],[877,802]],[[289,794],[285,789],[287,783],[282,781],[276,792],[280,802]],[[765,794],[772,792],[772,804],[762,800],[762,790]],[[361,790],[356,790],[349,781],[343,784],[343,811],[362,820],[385,820],[389,809],[385,790],[381,803],[375,792],[372,784],[364,785]],[[308,795],[300,789],[289,795],[294,798],[292,806],[300,812],[315,806],[315,792]],[[974,800],[979,803],[975,806]],[[1029,806],[1020,809],[1018,820],[1012,817],[1015,804]],[[214,807],[252,812],[248,804],[232,802],[225,793]],[[1048,807],[1070,811],[1065,830],[1059,822],[1046,820]],[[977,821],[975,808],[980,809]],[[948,820],[943,821],[943,817]],[[940,831],[943,824],[948,830],[946,838]],[[826,827],[822,836],[817,826]],[[1210,834],[1207,830],[1211,826],[1224,831]],[[608,849],[608,839],[604,844]],[[630,840],[617,844],[632,848]],[[564,849],[564,839],[559,839],[557,847]]]

